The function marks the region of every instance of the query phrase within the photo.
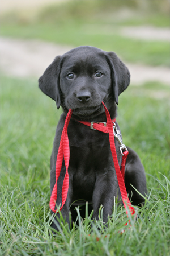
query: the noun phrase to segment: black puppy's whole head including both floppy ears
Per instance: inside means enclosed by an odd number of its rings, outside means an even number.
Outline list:
[[[118,105],[118,96],[129,82],[129,70],[116,53],[81,46],[57,56],[40,77],[39,88],[56,101],[57,108],[94,117],[102,101]]]

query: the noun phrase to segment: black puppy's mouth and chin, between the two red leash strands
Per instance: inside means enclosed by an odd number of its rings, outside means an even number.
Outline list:
[[[73,114],[78,115],[78,117],[86,118],[86,117],[92,117],[96,114],[100,114],[102,105],[99,106],[87,106],[87,107],[81,107],[73,109]]]

